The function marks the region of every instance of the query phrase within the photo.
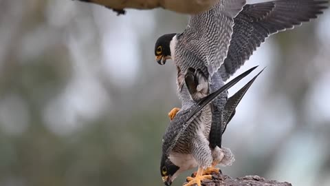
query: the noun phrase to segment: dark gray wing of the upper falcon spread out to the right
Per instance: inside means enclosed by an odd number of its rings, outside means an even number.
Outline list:
[[[278,0],[245,5],[234,18],[228,55],[220,68],[223,81],[234,74],[267,37],[315,19],[327,8],[325,3],[327,1]]]

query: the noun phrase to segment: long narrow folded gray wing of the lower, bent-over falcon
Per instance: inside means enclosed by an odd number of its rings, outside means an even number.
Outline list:
[[[250,72],[252,72],[256,68],[257,67],[254,67],[250,70],[243,72],[243,74],[226,83],[219,90],[208,94],[208,96],[203,97],[202,99],[197,101],[197,103],[193,105],[189,110],[178,112],[175,118],[173,118],[173,121],[170,122],[170,125],[168,125],[166,134],[163,137],[163,152],[166,152],[166,154],[168,154],[175,147],[181,134],[184,133],[190,123],[199,115],[199,112],[203,109],[203,107],[210,104],[214,99],[217,98],[217,96],[219,96],[219,94],[221,94],[221,92],[228,90],[230,87],[238,83],[241,79],[250,74]]]

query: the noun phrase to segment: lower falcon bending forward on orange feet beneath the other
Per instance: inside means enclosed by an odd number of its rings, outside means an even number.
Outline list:
[[[243,79],[255,68],[251,68],[237,76],[211,94],[208,94],[208,79],[203,75],[203,72],[199,69],[193,70],[193,68],[188,68],[185,75],[185,83],[193,102],[190,103],[190,107],[182,109],[177,113],[173,120],[170,121],[170,125],[168,125],[163,136],[160,172],[165,185],[170,185],[180,172],[198,166],[197,175],[195,178],[188,177],[190,182],[187,185],[197,183],[200,186],[201,180],[212,177],[203,174],[213,172],[215,165],[230,165],[234,161],[234,156],[230,149],[210,147],[209,134],[212,122],[210,103],[221,92],[228,90],[228,88]],[[241,90],[228,99],[232,101],[228,101],[230,105],[226,107],[228,109],[226,113],[229,116],[226,117],[226,123],[230,120],[236,105],[241,101],[243,95],[248,91],[248,88],[259,74],[254,76]]]

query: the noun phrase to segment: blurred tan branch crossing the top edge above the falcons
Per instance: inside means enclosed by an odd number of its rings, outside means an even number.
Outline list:
[[[174,12],[196,14],[208,10],[217,0],[78,0],[87,3],[96,3],[113,9],[118,14],[124,14],[124,8],[148,10],[164,8]]]

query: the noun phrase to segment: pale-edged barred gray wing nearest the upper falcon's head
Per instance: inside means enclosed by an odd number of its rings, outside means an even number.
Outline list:
[[[190,17],[186,30],[177,36],[175,58],[181,58],[179,61],[185,67],[181,70],[206,65],[210,76],[219,70],[227,56],[234,17],[244,5],[245,0],[220,0],[210,10]]]

